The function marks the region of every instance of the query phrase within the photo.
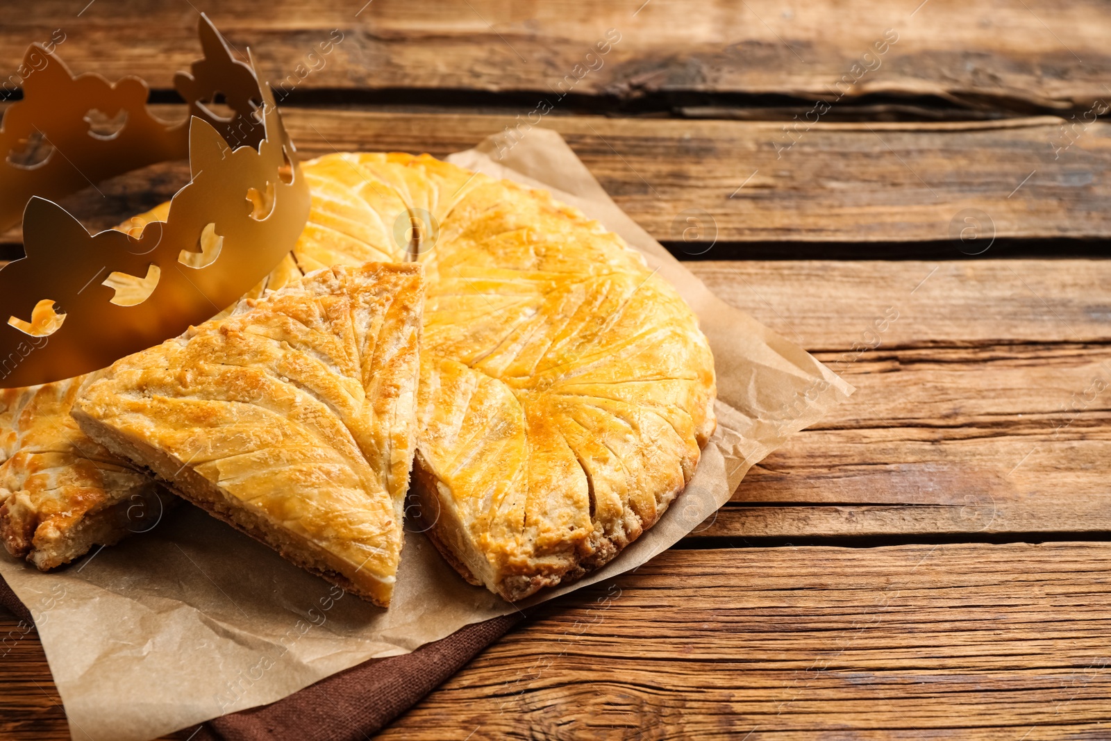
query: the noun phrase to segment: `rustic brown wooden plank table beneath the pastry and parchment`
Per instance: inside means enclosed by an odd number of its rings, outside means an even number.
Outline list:
[[[630,216],[858,388],[382,739],[1111,738],[1105,3],[362,1],[41,0],[0,69],[61,27],[164,102],[201,9],[287,80],[307,156],[444,154],[554,100]],[[109,223],[172,180],[74,203]],[[0,735],[68,738],[34,633],[8,643]]]

